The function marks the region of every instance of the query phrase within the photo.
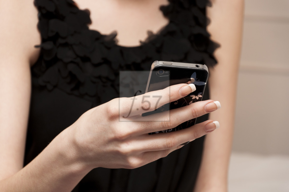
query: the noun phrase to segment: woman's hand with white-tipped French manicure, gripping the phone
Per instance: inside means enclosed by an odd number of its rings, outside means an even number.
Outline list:
[[[175,132],[148,134],[174,128],[220,107],[218,101],[207,100],[141,116],[194,90],[193,84],[178,84],[136,97],[113,99],[88,110],[68,128],[73,132],[81,162],[91,169],[133,169],[167,156],[181,148],[182,143],[212,132],[219,125],[217,121],[208,120]]]

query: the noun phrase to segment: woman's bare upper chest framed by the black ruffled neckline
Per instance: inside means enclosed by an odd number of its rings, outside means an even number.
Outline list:
[[[118,33],[118,45],[138,46],[147,31],[157,33],[169,23],[159,9],[168,0],[76,0],[80,9],[90,10],[92,24],[101,34]]]

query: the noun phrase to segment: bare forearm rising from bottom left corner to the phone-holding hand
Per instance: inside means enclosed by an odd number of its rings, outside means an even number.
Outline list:
[[[0,191],[71,191],[89,171],[66,129],[27,166],[2,180]]]

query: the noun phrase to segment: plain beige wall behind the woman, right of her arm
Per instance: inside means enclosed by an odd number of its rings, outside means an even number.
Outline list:
[[[289,0],[246,0],[233,152],[289,155]]]

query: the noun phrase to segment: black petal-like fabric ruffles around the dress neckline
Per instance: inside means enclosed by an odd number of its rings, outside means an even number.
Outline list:
[[[72,0],[35,0],[39,10],[41,54],[32,67],[36,84],[49,91],[93,100],[96,105],[118,97],[120,70],[149,70],[155,60],[216,64],[218,45],[206,31],[203,0],[168,0],[160,6],[169,23],[137,47],[117,45],[116,33],[89,29],[90,12]]]

